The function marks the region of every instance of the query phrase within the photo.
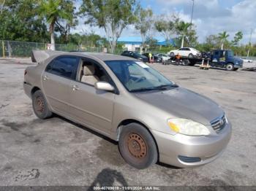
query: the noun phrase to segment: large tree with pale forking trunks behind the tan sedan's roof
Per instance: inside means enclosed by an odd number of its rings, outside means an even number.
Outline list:
[[[121,32],[135,23],[135,0],[83,0],[80,13],[86,16],[85,24],[104,28],[114,52]]]

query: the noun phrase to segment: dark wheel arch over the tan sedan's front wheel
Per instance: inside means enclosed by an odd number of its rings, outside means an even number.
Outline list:
[[[157,146],[157,161],[159,161],[159,148],[158,148],[158,144],[157,144],[157,140],[154,138],[154,135],[151,133],[151,131],[149,130],[148,126],[145,125],[143,122],[140,122],[139,120],[134,120],[134,119],[127,119],[127,120],[123,120],[119,123],[118,127],[117,127],[117,130],[116,130],[116,141],[119,140],[119,136],[120,136],[120,133],[121,133],[121,129],[124,128],[124,125],[128,125],[132,122],[135,122],[135,123],[138,123],[140,124],[141,126],[143,126],[143,128],[146,128],[146,130],[148,130],[148,133],[151,134],[152,138],[154,139],[154,143],[156,144]]]

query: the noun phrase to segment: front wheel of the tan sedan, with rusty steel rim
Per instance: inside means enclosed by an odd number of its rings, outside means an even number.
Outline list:
[[[122,128],[118,147],[124,160],[135,168],[144,169],[157,163],[157,145],[148,130],[138,123]]]

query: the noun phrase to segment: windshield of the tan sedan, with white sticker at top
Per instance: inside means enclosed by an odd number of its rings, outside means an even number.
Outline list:
[[[129,92],[177,87],[158,71],[140,61],[105,61],[105,63]]]

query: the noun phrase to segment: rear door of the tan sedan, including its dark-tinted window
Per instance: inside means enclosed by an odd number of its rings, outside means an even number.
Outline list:
[[[69,113],[70,82],[77,69],[78,58],[65,55],[54,58],[42,74],[43,91],[54,112]]]

